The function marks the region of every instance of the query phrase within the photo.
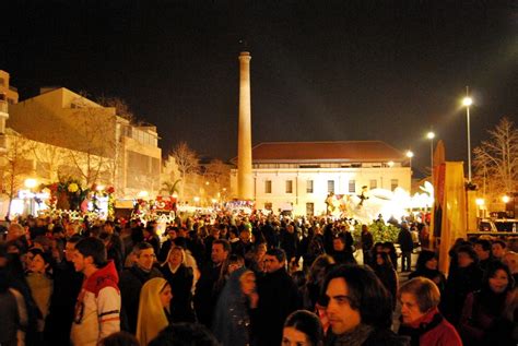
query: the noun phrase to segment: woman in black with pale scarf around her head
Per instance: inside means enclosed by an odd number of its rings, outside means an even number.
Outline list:
[[[173,246],[166,262],[161,266],[164,278],[173,293],[170,300],[172,322],[195,322],[192,308],[192,269],[186,265],[186,253],[181,247]]]

